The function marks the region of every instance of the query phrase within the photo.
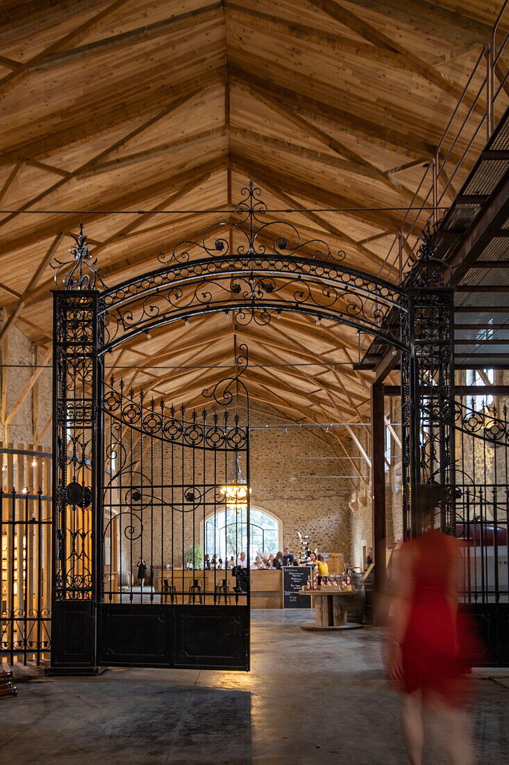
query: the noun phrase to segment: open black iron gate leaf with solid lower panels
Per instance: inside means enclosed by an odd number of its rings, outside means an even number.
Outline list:
[[[99,665],[249,669],[249,439],[225,407],[234,381],[191,412],[105,384]]]

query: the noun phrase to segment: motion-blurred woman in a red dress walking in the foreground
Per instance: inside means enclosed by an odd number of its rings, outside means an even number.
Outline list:
[[[418,492],[424,532],[397,553],[388,672],[394,687],[404,692],[402,723],[410,763],[422,763],[426,705],[437,711],[451,762],[468,765],[475,754],[462,709],[463,675],[470,668],[462,658],[468,630],[459,627],[457,614],[459,542],[433,528],[438,485]]]

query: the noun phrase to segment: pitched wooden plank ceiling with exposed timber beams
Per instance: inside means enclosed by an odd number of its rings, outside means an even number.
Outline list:
[[[388,275],[404,208],[500,5],[4,0],[0,207],[51,211],[0,213],[4,327],[47,346],[49,263],[79,220],[114,285],[225,220],[249,178],[271,210],[303,210],[267,217]],[[195,402],[219,372],[189,367],[232,363],[242,342],[254,399],[297,422],[368,417],[354,330],[310,317],[244,328],[196,318],[110,360],[135,387]]]

